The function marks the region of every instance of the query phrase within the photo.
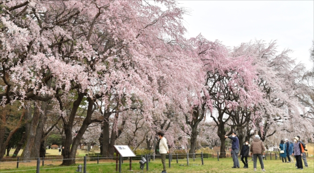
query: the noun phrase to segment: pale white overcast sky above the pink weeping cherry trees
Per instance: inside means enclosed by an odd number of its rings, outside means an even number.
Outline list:
[[[293,50],[297,63],[309,61],[314,40],[314,0],[178,0],[187,38],[202,33],[210,41],[237,46],[250,40],[277,40],[278,50]]]

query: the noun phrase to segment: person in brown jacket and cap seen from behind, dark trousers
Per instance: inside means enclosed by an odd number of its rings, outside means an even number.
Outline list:
[[[263,151],[266,151],[264,143],[262,142],[260,136],[257,134],[255,135],[254,140],[252,141],[252,145],[250,147],[251,155],[253,153],[253,162],[254,162],[254,171],[256,171],[256,164],[257,164],[257,158],[259,157],[260,164],[262,171],[265,171],[264,169],[264,163],[263,163],[263,158],[262,158],[262,153]]]

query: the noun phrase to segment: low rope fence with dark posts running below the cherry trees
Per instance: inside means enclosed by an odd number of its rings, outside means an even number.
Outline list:
[[[220,152],[212,152],[212,153],[186,153],[186,154],[182,154],[182,153],[169,153],[166,157],[166,159],[168,159],[169,163],[169,168],[171,168],[171,164],[172,161],[176,161],[176,163],[178,164],[179,161],[185,161],[186,160],[186,165],[189,166],[189,162],[190,159],[193,159],[193,162],[195,162],[195,160],[198,160],[197,162],[199,162],[199,160],[201,160],[201,164],[204,165],[204,159],[205,158],[209,158],[209,159],[217,159],[219,161],[219,158],[228,158],[228,157],[232,157],[232,154],[229,155],[228,152],[223,152],[224,154],[221,155]],[[101,156],[101,157],[100,157]],[[97,155],[97,157],[93,156],[93,157],[88,157],[88,156],[84,156],[83,158],[73,158],[73,159],[45,159],[45,157],[37,157],[37,158],[32,158],[33,160],[27,160],[30,158],[19,158],[17,157],[17,161],[0,161],[0,173],[11,173],[11,172],[27,172],[27,171],[35,171],[36,173],[40,173],[40,170],[49,170],[49,169],[62,169],[62,168],[78,168],[78,172],[81,171],[83,173],[86,173],[86,168],[90,167],[90,166],[104,166],[104,165],[116,165],[116,171],[118,171],[119,168],[119,173],[121,173],[121,165],[126,165],[126,164],[130,164],[130,170],[131,170],[131,164],[139,164],[138,162],[134,162],[132,163],[131,160],[141,160],[142,157],[144,157],[146,159],[145,165],[146,165],[146,170],[149,170],[149,163],[151,162],[157,162],[156,158],[161,158],[161,154],[145,154],[145,155],[136,155],[135,157],[132,157],[130,159],[130,163],[126,162],[123,163],[124,160],[127,160],[128,157],[121,157],[121,156],[109,156],[109,157],[102,157],[103,155]],[[308,153],[306,154],[306,156],[308,157]],[[238,155],[239,157],[239,155]],[[278,158],[279,157],[279,158]],[[35,160],[36,159],[36,160]],[[119,163],[101,163],[99,164],[100,160],[118,160],[119,159]],[[263,159],[267,160],[277,160],[277,159],[281,159],[280,158],[280,154],[278,154],[277,152],[265,152]],[[83,166],[78,165],[78,166],[64,166],[64,167],[55,167],[55,168],[44,168],[44,162],[48,162],[48,163],[55,163],[55,162],[62,162],[64,160],[75,160],[78,162],[82,162]],[[92,165],[87,165],[87,161],[92,162],[92,161],[97,161],[97,164],[92,164]],[[6,163],[15,163],[16,162],[16,168],[19,168],[19,164],[23,164],[23,163],[33,163],[36,162],[36,169],[29,169],[29,170],[15,170],[15,171],[2,171],[1,170],[1,165],[6,164]],[[40,166],[42,162],[42,166]],[[160,162],[158,160],[158,162]],[[93,162],[95,163],[95,162]],[[78,164],[78,163],[77,163]],[[28,165],[29,166],[29,165]],[[31,165],[31,166],[35,166],[35,165]],[[47,164],[47,166],[54,166],[52,164]],[[80,169],[79,169],[80,166]]]

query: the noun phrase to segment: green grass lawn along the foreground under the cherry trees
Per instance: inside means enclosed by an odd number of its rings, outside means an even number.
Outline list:
[[[282,163],[281,160],[264,160],[264,166],[266,172],[269,173],[314,173],[314,157],[308,157],[309,168],[304,168],[303,171],[297,170],[294,167],[294,163]],[[240,161],[240,169],[233,169],[232,158],[221,158],[220,161],[217,161],[217,158],[204,158],[204,165],[201,165],[201,159],[197,158],[195,161],[193,159],[189,159],[189,166],[186,166],[186,160],[179,160],[179,164],[176,163],[174,159],[171,162],[171,168],[168,168],[168,160],[166,160],[167,164],[167,172],[168,173],[248,173],[253,171],[253,162],[249,161],[249,169],[243,169],[243,164]],[[134,173],[139,173],[141,170],[139,169],[139,161],[133,160],[132,169]],[[40,167],[41,173],[75,173],[78,164],[82,164],[82,160],[77,161],[77,165],[72,167],[62,167],[57,166],[60,165],[60,161],[45,161],[45,166]],[[54,166],[46,166],[46,164],[53,164]],[[184,166],[179,166],[183,164]],[[304,163],[303,163],[304,164]],[[35,173],[36,172],[36,161],[34,162],[26,162],[20,163],[19,169],[16,169],[15,163],[0,163],[0,173],[1,172],[26,172],[26,173]],[[31,171],[26,171],[31,170]],[[122,165],[123,173],[130,173],[128,160],[124,161]],[[154,162],[152,161],[149,164],[149,171],[146,171],[146,167],[144,168],[144,172],[147,173],[161,173],[162,164],[160,159],[156,159]],[[89,173],[114,173],[115,172],[115,161],[113,160],[100,160],[99,164],[97,161],[87,161],[87,172]],[[259,165],[259,161],[257,164],[257,172],[262,172],[261,166]]]

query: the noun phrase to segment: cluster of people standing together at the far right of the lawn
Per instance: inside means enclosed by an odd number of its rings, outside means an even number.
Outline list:
[[[285,143],[286,142],[286,143]],[[282,158],[283,163],[293,163],[295,157],[295,166],[297,169],[303,170],[303,163],[302,159],[304,161],[304,166],[308,167],[308,162],[306,160],[305,155],[305,144],[303,141],[301,141],[300,136],[296,136],[293,138],[293,141],[289,141],[288,139],[281,140],[279,144],[280,148],[280,157]],[[287,162],[288,157],[288,162]],[[285,160],[285,162],[284,162]]]

